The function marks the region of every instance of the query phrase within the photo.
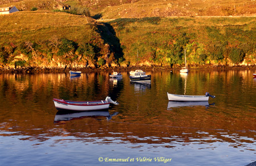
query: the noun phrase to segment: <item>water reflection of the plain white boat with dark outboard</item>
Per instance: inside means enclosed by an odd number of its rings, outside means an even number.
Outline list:
[[[209,104],[208,101],[169,101],[167,110],[172,110],[174,107],[190,107],[190,106],[205,106],[209,107],[210,105],[214,105],[214,103]]]

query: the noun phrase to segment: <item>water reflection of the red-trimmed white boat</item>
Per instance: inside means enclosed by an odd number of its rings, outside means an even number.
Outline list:
[[[118,112],[110,114],[108,109],[98,111],[58,111],[54,118],[54,123],[62,123],[64,121],[80,120],[88,117],[106,117],[107,120],[111,120],[112,116],[117,115]]]

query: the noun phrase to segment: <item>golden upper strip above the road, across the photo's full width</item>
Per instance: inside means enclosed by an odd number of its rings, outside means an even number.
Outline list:
[[[95,18],[143,18],[180,16],[255,16],[256,2],[253,0],[3,0],[0,7],[16,6],[22,11],[33,7],[39,10],[71,7],[88,7]]]

